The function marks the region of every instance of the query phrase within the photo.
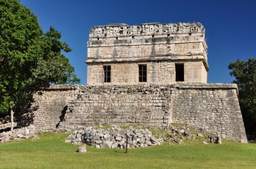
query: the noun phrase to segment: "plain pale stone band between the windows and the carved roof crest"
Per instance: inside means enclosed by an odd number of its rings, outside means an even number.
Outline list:
[[[157,60],[161,56],[179,56],[179,58],[192,58],[193,56],[204,59],[206,48],[203,38],[197,36],[173,35],[160,38],[143,38],[128,40],[96,40],[88,42],[88,61],[104,60],[141,60],[151,58]],[[182,38],[182,39],[181,39]],[[194,40],[197,38],[197,41]],[[181,40],[180,40],[181,39]],[[193,40],[191,40],[193,39]],[[200,42],[201,41],[201,42]],[[174,59],[174,58],[173,58]]]

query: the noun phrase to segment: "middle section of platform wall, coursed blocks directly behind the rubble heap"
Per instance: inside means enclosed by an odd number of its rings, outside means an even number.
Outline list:
[[[82,93],[68,105],[61,127],[87,125],[141,125],[167,127],[170,101],[160,89],[150,87],[81,87]],[[170,91],[166,91],[166,95]]]

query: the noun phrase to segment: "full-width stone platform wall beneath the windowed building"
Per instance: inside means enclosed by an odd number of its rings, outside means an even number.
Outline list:
[[[236,84],[53,85],[34,95],[31,109],[38,129],[187,123],[247,142]]]

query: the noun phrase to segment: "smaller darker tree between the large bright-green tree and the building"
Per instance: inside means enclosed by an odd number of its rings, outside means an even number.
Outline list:
[[[35,87],[49,83],[74,84],[80,80],[74,74],[74,68],[61,52],[71,52],[71,48],[60,41],[61,34],[53,27],[43,34],[40,46],[41,56],[37,57],[31,69],[30,83]]]

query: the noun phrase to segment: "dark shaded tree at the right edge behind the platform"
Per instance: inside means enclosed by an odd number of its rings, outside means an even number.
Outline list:
[[[237,60],[228,66],[232,69],[239,90],[239,103],[247,133],[256,136],[256,60],[249,58],[247,62]]]

